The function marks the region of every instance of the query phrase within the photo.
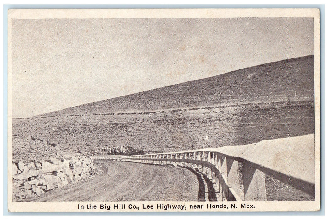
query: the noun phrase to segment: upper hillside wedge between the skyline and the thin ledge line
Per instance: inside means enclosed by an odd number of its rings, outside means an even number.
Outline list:
[[[88,103],[43,116],[286,101],[288,93],[292,93],[292,101],[314,100],[313,55]]]

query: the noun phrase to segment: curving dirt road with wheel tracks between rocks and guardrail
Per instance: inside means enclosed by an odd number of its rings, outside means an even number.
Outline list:
[[[31,202],[197,201],[196,175],[184,168],[109,161],[93,178],[54,189]]]

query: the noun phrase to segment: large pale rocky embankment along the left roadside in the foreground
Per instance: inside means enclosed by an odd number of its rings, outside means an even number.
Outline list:
[[[92,160],[81,154],[57,154],[49,160],[12,163],[13,201],[90,178],[96,173]]]

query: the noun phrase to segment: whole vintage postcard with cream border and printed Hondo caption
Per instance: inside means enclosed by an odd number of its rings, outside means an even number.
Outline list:
[[[318,9],[8,11],[8,210],[320,210]]]

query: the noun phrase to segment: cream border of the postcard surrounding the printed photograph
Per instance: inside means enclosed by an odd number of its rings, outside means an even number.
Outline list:
[[[8,10],[8,211],[10,212],[92,212],[116,210],[78,210],[77,205],[97,205],[104,202],[12,202],[12,81],[11,81],[11,19],[36,18],[224,18],[224,17],[313,17],[314,66],[315,66],[315,201],[244,202],[256,209],[233,211],[318,211],[320,210],[320,30],[318,9],[11,9]],[[238,202],[119,202],[141,207],[142,205],[171,204],[198,205],[206,203],[238,204]],[[107,202],[113,206],[118,202]],[[144,211],[144,210],[118,210]],[[172,210],[147,210],[172,211]],[[183,210],[182,210],[183,211]],[[192,211],[192,210],[188,210]],[[196,211],[231,211],[203,209]]]

